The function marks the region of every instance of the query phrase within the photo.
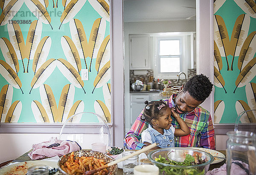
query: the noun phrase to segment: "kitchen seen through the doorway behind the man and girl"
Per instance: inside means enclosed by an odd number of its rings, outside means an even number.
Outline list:
[[[169,80],[169,86],[178,87],[196,74],[195,1],[166,3],[124,1],[125,133],[145,107],[145,100],[168,98],[172,94],[162,92],[162,79]],[[179,43],[168,47],[173,48],[171,57],[178,57],[176,64],[173,64],[175,58],[172,63],[160,62],[157,50],[160,40]],[[175,48],[175,45],[180,47]],[[166,70],[160,65],[167,65]],[[180,72],[184,75],[179,75]],[[136,80],[144,83],[144,89],[139,92],[130,86]]]

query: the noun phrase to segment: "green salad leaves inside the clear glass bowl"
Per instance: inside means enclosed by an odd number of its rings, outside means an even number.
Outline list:
[[[183,162],[177,162],[174,160],[171,160],[169,158],[164,158],[161,155],[159,155],[158,158],[155,158],[155,161],[163,163],[163,164],[170,164],[170,165],[178,165],[178,166],[192,166],[197,164],[203,164],[206,162],[205,160],[201,160],[198,155],[195,155],[193,157],[192,155],[186,154],[186,158]],[[204,175],[204,167],[199,168],[176,168],[176,167],[170,167],[170,166],[162,166],[160,164],[157,164],[157,166],[160,169],[160,172],[163,173],[163,175]]]

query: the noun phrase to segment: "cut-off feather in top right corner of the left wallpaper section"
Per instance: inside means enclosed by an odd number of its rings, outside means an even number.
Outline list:
[[[90,5],[101,17],[109,21],[109,3],[105,0],[88,0]]]

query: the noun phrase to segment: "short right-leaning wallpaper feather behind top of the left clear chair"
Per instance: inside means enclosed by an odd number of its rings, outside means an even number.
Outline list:
[[[84,102],[82,100],[78,100],[73,104],[67,118],[70,118],[72,115],[78,114],[80,112],[84,112]],[[76,115],[75,117],[70,119],[69,122],[79,123],[82,118],[82,115],[83,114]]]

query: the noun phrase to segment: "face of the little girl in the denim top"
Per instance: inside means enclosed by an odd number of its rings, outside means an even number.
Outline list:
[[[161,129],[170,129],[172,126],[171,114],[171,109],[169,107],[166,108],[166,111],[163,112],[163,115],[157,119],[157,127]]]

